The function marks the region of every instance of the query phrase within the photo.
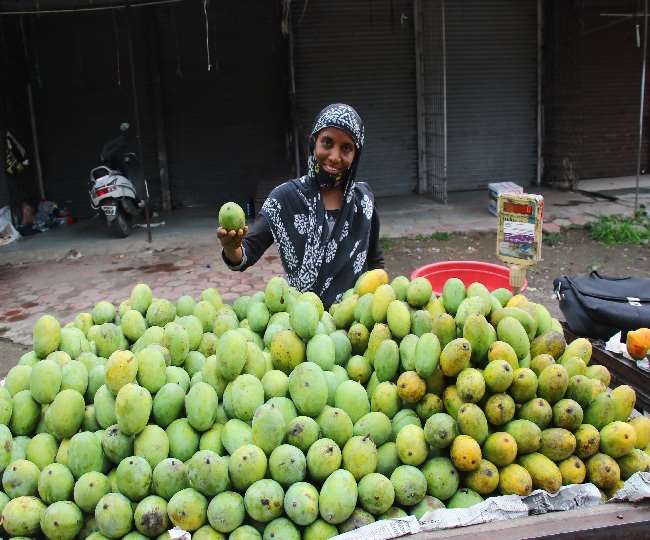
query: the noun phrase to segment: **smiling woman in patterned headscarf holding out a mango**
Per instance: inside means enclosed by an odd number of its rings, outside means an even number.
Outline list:
[[[355,181],[363,139],[352,107],[325,107],[309,138],[307,174],[276,187],[250,231],[217,230],[224,262],[245,270],[275,241],[289,285],[315,292],[326,307],[360,274],[383,268],[374,195]]]

